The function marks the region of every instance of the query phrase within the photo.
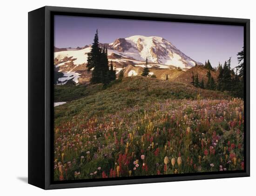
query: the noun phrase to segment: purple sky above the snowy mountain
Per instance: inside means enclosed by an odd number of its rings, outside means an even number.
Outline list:
[[[243,26],[207,25],[146,20],[107,19],[60,16],[54,19],[54,46],[77,47],[93,42],[96,29],[101,43],[133,35],[159,36],[170,41],[190,58],[213,66],[231,59],[237,65],[236,54],[243,47]]]

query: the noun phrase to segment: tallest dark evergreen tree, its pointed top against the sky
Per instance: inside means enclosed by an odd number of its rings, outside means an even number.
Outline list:
[[[98,30],[96,30],[92,49],[88,53],[88,59],[87,59],[88,71],[93,69],[91,83],[101,83],[100,60],[101,60],[101,48],[99,47]]]

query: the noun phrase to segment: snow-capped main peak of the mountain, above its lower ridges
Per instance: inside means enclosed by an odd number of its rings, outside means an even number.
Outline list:
[[[185,55],[162,37],[135,35],[125,39],[116,39],[109,46],[112,50],[124,52],[126,55],[141,61],[148,57],[149,62],[181,68],[195,66],[195,63],[201,64]]]

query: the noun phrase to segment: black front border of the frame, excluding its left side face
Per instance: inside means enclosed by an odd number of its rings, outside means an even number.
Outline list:
[[[51,12],[68,12],[68,13],[94,13],[94,14],[106,14],[112,16],[138,16],[148,17],[154,19],[182,19],[188,20],[191,23],[193,20],[211,22],[229,22],[229,23],[241,23],[246,26],[246,107],[247,110],[247,130],[246,130],[246,170],[241,173],[223,173],[223,174],[209,174],[209,175],[196,175],[196,176],[162,176],[161,178],[143,178],[143,179],[122,179],[111,181],[97,181],[97,182],[74,182],[74,183],[54,183],[51,184]],[[85,8],[70,8],[70,7],[45,7],[45,187],[44,189],[63,189],[63,188],[78,188],[78,187],[92,187],[92,186],[109,186],[109,185],[123,185],[123,184],[137,184],[137,183],[158,183],[158,182],[173,182],[173,181],[185,181],[185,180],[202,180],[202,179],[218,179],[228,177],[245,177],[249,176],[249,20],[248,19],[235,19],[235,18],[221,18],[221,17],[209,17],[209,16],[189,16],[189,15],[177,15],[167,13],[141,13],[141,12],[128,12],[128,11],[113,11],[113,10],[98,10],[98,9],[85,9]]]

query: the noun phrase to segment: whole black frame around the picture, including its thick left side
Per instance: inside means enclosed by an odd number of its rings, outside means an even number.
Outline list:
[[[244,170],[193,174],[53,181],[53,16],[93,16],[118,19],[175,21],[244,26]],[[28,13],[28,183],[42,189],[62,189],[135,183],[157,183],[250,175],[250,20],[142,13],[70,7],[41,7]]]

